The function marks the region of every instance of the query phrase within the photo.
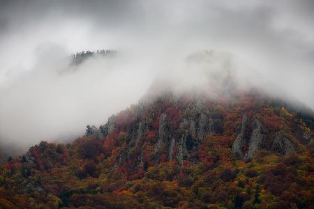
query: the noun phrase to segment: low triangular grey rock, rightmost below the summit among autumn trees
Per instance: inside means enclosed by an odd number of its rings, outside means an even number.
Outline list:
[[[297,152],[296,147],[281,132],[276,134],[271,150],[279,155],[289,155]]]

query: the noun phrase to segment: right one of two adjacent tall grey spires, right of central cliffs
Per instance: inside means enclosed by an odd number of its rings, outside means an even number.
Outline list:
[[[264,126],[260,121],[255,119],[253,124],[253,132],[251,135],[250,142],[248,144],[248,153],[246,153],[246,160],[251,160],[253,155],[257,152],[257,150],[260,150],[264,148]]]

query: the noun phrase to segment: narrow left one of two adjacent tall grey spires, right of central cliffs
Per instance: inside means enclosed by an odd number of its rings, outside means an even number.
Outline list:
[[[245,139],[246,123],[248,123],[248,118],[246,117],[246,115],[244,115],[242,118],[242,124],[240,127],[239,134],[232,144],[233,156],[234,158],[239,159],[239,160],[244,159],[244,153],[242,152],[242,148],[243,146],[246,145],[246,139]]]

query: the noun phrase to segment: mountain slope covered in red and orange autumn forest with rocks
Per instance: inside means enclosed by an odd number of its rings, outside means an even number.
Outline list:
[[[243,89],[161,91],[0,168],[0,208],[313,208],[314,118]],[[219,85],[216,85],[219,84]]]

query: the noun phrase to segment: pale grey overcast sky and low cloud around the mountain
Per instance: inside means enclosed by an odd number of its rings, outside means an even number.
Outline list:
[[[234,54],[314,109],[313,20],[311,0],[0,0],[0,140],[81,134],[137,102],[159,68],[204,49]],[[73,52],[106,48],[124,63],[55,73]]]

